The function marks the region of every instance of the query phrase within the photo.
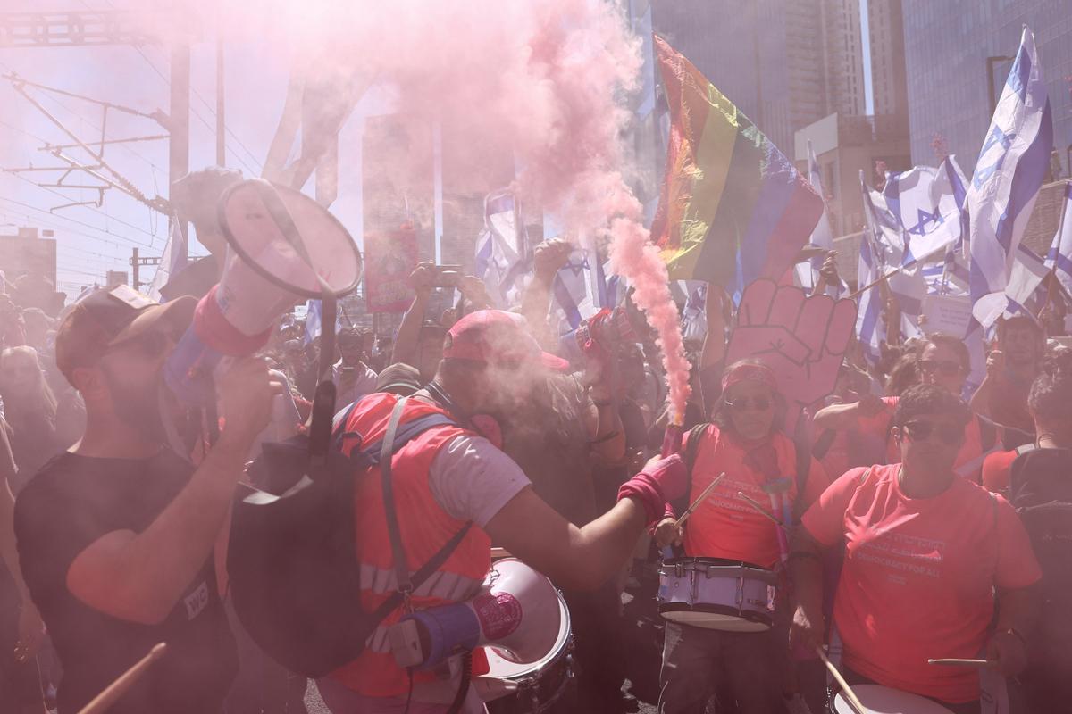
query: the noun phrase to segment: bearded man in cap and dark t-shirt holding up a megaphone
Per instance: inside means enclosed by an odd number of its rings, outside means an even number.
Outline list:
[[[98,290],[56,336],[57,366],[86,401],[86,432],[23,491],[15,532],[63,664],[61,714],[158,642],[164,657],[110,712],[215,712],[235,673],[212,555],[281,385],[264,361],[236,361],[218,382],[225,428],[200,465],[167,449],[174,400],[161,375],[194,306],[160,305],[125,286]]]

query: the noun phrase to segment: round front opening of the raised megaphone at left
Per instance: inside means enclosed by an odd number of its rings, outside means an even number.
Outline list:
[[[218,207],[227,244],[262,277],[303,298],[324,286],[344,295],[361,279],[361,255],[339,219],[299,191],[264,179],[228,188]]]

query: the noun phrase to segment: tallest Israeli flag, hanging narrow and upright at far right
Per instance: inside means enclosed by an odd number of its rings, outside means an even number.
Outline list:
[[[1034,35],[1024,26],[967,192],[972,316],[984,328],[1008,306],[1006,288],[1053,146],[1054,123]]]

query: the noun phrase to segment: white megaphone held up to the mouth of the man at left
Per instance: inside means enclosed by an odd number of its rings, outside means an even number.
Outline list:
[[[189,406],[212,404],[211,377],[221,362],[264,347],[299,301],[344,295],[361,278],[349,233],[301,192],[242,181],[220,198],[218,217],[227,240],[223,276],[197,303],[164,366],[167,386]]]

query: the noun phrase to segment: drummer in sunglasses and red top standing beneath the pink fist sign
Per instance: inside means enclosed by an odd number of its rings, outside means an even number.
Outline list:
[[[694,431],[690,499],[719,474],[726,476],[689,516],[676,525],[686,500],[668,512],[655,530],[660,547],[684,545],[689,558],[720,559],[774,571],[787,556],[784,534],[768,515],[741,495],[785,522],[795,518],[829,483],[810,454],[799,457],[783,431],[785,399],[774,373],[744,360],[723,373],[721,399],[713,423]],[[688,440],[687,440],[688,441]],[[798,464],[806,465],[798,474]],[[788,523],[786,523],[788,526]],[[765,632],[728,632],[668,622],[659,677],[659,712],[702,711],[718,689],[736,701],[740,714],[779,713],[785,703],[786,623],[778,606],[774,626]]]

